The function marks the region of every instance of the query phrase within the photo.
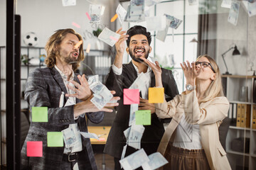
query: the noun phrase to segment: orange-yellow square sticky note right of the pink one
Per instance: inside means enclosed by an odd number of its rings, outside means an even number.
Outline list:
[[[149,103],[164,103],[164,87],[149,87]]]

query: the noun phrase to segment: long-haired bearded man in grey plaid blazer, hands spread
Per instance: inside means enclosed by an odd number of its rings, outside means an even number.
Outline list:
[[[92,92],[85,75],[75,74],[84,60],[81,35],[73,29],[57,30],[46,43],[46,68],[33,70],[26,82],[25,99],[30,108],[47,107],[48,122],[31,122],[21,150],[21,169],[97,169],[90,139],[80,132],[87,132],[86,117],[92,123],[100,123],[109,108],[98,110],[90,101]],[[65,94],[65,95],[64,95]],[[112,91],[114,94],[114,91]],[[119,99],[114,97],[114,99]],[[117,106],[118,103],[107,103]],[[85,116],[86,114],[86,116]],[[73,143],[64,147],[49,147],[48,132],[68,130]],[[63,135],[65,137],[65,135]],[[27,142],[43,143],[42,157],[28,157]]]

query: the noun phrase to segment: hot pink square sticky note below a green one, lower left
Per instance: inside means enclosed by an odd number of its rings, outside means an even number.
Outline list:
[[[28,141],[27,142],[27,157],[43,157],[43,142]]]

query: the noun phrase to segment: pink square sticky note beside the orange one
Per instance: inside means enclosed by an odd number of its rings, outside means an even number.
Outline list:
[[[139,104],[139,89],[124,89],[124,105]]]

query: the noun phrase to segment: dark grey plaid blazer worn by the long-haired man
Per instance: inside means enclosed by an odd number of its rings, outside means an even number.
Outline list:
[[[78,74],[75,74],[75,81],[78,81]],[[64,147],[47,147],[47,132],[60,132],[68,128],[69,124],[78,123],[81,132],[87,132],[85,116],[79,116],[74,120],[73,107],[59,108],[61,92],[67,94],[65,84],[60,73],[54,67],[35,69],[28,75],[26,82],[25,99],[30,107],[47,106],[48,123],[31,122],[28,135],[21,149],[21,169],[60,169],[63,159]],[[64,103],[68,100],[65,97]],[[77,103],[81,102],[77,99]],[[65,104],[64,104],[65,105]],[[92,123],[100,123],[104,117],[103,112],[86,113]],[[43,157],[27,157],[26,142],[43,141]],[[97,169],[90,139],[82,137],[83,150],[87,152],[90,160],[88,169]]]

